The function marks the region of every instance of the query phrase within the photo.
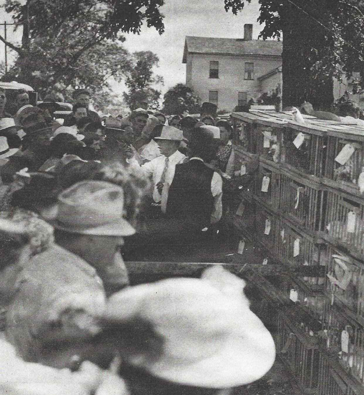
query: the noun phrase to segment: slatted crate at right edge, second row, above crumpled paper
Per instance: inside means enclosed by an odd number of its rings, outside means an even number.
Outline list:
[[[328,189],[325,231],[332,244],[354,256],[364,254],[364,199]]]

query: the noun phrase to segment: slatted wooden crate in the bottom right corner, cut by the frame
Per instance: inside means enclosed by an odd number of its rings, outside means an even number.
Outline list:
[[[319,395],[363,395],[364,388],[327,355],[320,354],[319,380],[317,386]]]

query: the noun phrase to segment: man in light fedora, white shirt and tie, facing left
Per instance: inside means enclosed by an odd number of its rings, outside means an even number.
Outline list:
[[[154,203],[159,204],[167,201],[174,168],[176,164],[186,160],[186,155],[178,151],[182,138],[182,130],[174,128],[174,126],[163,126],[161,135],[155,138],[162,155],[141,166],[144,173],[152,177]]]

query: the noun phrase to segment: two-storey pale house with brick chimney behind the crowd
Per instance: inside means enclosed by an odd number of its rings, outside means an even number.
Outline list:
[[[282,41],[252,36],[252,24],[244,25],[244,38],[186,36],[186,85],[201,102],[232,111],[281,84]]]

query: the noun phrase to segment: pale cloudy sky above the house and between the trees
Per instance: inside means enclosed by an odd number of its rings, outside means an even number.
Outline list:
[[[182,64],[185,36],[243,38],[244,24],[252,23],[253,38],[257,38],[263,28],[257,23],[258,0],[247,3],[238,15],[225,12],[223,0],[165,0],[161,12],[165,15],[162,35],[154,28],[143,26],[139,35],[124,35],[124,46],[129,52],[152,51],[158,55],[159,67],[155,72],[164,78],[162,93],[176,83],[186,82],[186,65]],[[0,9],[0,21],[4,20],[11,22],[9,15]],[[8,40],[19,41],[21,32],[14,34],[9,30]],[[4,46],[0,43],[0,59],[3,58]],[[121,94],[125,90],[124,84],[115,84],[114,90]]]

